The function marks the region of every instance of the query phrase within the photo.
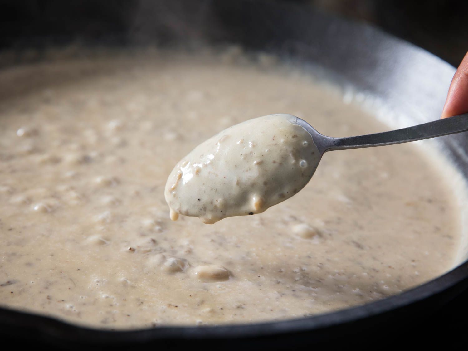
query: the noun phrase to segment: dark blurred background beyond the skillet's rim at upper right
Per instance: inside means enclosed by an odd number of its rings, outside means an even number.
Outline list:
[[[458,66],[468,51],[467,0],[296,0],[384,31]]]

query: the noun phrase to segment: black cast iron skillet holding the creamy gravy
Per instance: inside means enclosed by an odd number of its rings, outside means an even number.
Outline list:
[[[392,109],[391,118],[412,124],[439,117],[454,68],[430,53],[369,26],[273,1],[30,1],[6,2],[4,65],[41,59],[41,50],[81,45],[161,46],[184,42],[241,44],[319,66],[340,84],[372,94]],[[25,55],[26,49],[36,54]],[[12,57],[6,55],[5,57]],[[467,138],[442,139],[449,157],[468,178]],[[53,318],[0,309],[3,340],[49,348],[195,347],[295,348],[359,344],[414,329],[468,287],[468,263],[402,294],[361,307],[284,322],[217,327],[158,327],[135,331],[87,329]],[[388,336],[391,336],[388,338]],[[383,341],[385,340],[385,341]]]

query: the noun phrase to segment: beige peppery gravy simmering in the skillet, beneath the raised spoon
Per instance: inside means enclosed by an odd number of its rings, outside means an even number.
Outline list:
[[[331,136],[389,129],[306,73],[226,55],[3,70],[1,306],[97,328],[247,323],[361,305],[451,268],[457,203],[415,145],[327,153],[255,216],[171,221],[176,162],[271,113]]]

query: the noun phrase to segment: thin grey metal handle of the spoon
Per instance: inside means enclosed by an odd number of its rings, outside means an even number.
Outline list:
[[[330,150],[400,144],[465,131],[468,131],[468,113],[390,132],[346,138],[325,137],[322,141],[322,153]]]

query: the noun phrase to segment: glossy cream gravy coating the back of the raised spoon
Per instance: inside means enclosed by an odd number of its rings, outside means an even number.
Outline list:
[[[310,134],[290,122],[295,118],[276,114],[250,119],[193,149],[166,183],[171,219],[180,213],[213,224],[261,213],[301,190],[320,153]]]

